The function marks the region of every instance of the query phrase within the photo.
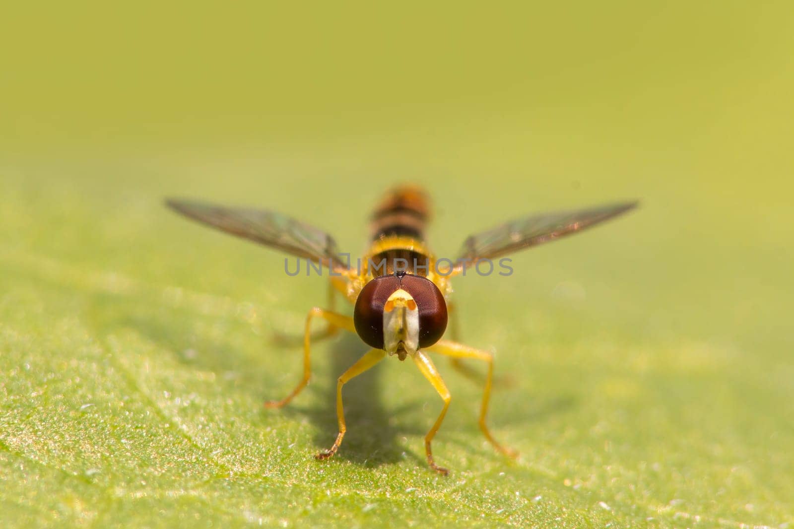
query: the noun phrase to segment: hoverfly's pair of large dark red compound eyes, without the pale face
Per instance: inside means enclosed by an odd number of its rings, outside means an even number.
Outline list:
[[[399,288],[408,292],[418,307],[419,347],[432,346],[444,335],[447,309],[441,291],[422,276],[380,276],[366,284],[353,309],[356,332],[368,346],[384,348],[384,305]]]

